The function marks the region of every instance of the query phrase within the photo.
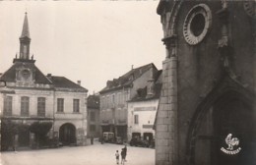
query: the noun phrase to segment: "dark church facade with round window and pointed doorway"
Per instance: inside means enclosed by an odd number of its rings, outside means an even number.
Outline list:
[[[252,165],[255,1],[160,1],[158,165]]]

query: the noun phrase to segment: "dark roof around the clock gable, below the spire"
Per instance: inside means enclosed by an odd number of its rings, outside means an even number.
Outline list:
[[[34,83],[51,83],[41,72],[40,70],[34,65],[34,61],[27,60],[27,62],[15,62],[9,70],[7,70],[1,77],[1,81],[5,82],[16,82],[16,70],[21,67],[26,67],[34,71],[35,75],[35,82]]]

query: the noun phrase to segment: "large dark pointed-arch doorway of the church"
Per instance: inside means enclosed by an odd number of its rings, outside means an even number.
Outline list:
[[[190,165],[256,163],[254,98],[242,88],[223,86],[202,101],[187,138]]]

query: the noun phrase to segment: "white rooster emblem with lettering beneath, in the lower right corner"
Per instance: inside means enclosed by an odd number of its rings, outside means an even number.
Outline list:
[[[225,138],[225,143],[227,144],[227,147],[222,147],[221,150],[225,154],[229,155],[235,155],[240,152],[241,147],[239,147],[239,139],[238,138],[232,138],[232,134],[228,134]],[[234,146],[236,146],[236,149],[234,149]]]

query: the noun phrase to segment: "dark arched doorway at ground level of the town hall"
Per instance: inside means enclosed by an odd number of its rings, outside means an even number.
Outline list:
[[[76,127],[70,123],[62,125],[59,129],[59,140],[63,145],[76,143]]]

